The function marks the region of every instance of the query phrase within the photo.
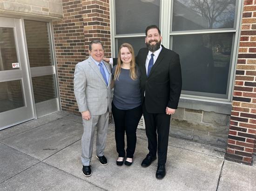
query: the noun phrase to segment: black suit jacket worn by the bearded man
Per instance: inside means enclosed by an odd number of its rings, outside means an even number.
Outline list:
[[[165,113],[166,107],[176,109],[182,90],[179,55],[162,46],[149,76],[145,67],[147,55],[148,48],[141,48],[136,56],[136,64],[141,70],[141,97],[142,101],[145,99],[147,112]]]

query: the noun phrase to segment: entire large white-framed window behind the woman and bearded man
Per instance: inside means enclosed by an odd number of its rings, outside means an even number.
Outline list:
[[[230,101],[241,4],[240,0],[114,0],[114,56],[123,42],[132,44],[136,54],[145,47],[146,26],[158,25],[162,45],[180,55],[182,96]]]

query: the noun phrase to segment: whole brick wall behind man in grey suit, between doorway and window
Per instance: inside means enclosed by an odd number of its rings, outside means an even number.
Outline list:
[[[53,23],[61,107],[79,113],[74,97],[74,67],[88,58],[89,42],[94,39],[101,40],[105,56],[111,56],[109,1],[63,0],[62,6],[63,19]]]

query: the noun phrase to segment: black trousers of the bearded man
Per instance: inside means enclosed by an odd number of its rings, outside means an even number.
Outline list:
[[[149,155],[156,156],[157,152],[158,164],[165,165],[171,115],[167,115],[166,113],[148,113],[145,107],[145,102],[142,104],[142,110],[148,137]]]

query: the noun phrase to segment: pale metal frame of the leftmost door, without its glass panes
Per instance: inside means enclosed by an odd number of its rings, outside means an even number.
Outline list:
[[[21,80],[24,106],[11,109],[0,113],[0,130],[34,119],[34,108],[30,86],[30,76],[28,72],[27,59],[25,54],[25,44],[23,38],[21,19],[0,17],[1,27],[13,28],[15,48],[18,62],[20,63],[19,70],[3,70],[0,71],[0,82],[8,82],[13,80]]]

